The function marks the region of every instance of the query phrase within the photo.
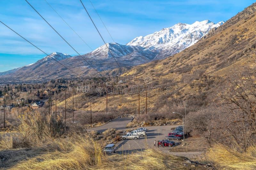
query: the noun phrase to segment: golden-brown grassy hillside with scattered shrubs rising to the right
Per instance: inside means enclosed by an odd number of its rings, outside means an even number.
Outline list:
[[[129,91],[136,89],[134,87],[138,87],[138,84],[143,85],[146,78],[150,112],[159,111],[165,104],[172,105],[184,100],[190,106],[207,105],[205,99],[234,71],[247,65],[248,59],[255,57],[255,6],[252,4],[182,52],[127,71],[125,75],[130,77]],[[145,92],[140,97],[140,110],[145,113]],[[119,98],[110,96],[109,106],[118,108]],[[138,91],[123,95],[122,102],[122,107],[136,113]],[[104,106],[105,97],[98,98],[96,103]],[[104,111],[105,107],[96,107],[95,110]]]

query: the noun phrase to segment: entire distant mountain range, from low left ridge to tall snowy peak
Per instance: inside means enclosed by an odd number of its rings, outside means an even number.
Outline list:
[[[145,37],[137,37],[127,45],[107,43],[107,46],[118,61],[118,64],[127,69],[131,66],[163,59],[178,53],[188,46],[195,44],[211,29],[215,29],[222,24],[223,21],[214,24],[209,20],[202,22],[197,21],[192,25],[179,23]],[[118,65],[108,51],[108,48],[105,45],[100,46],[96,50],[82,55],[82,57],[71,57],[68,54],[55,52],[48,57],[38,60],[36,63],[3,72],[0,73],[0,75],[4,76],[5,80],[8,80],[8,78],[16,78],[21,81],[49,80],[76,76],[52,58],[61,61],[61,63],[63,62],[66,67],[82,76],[97,76],[97,72],[90,67],[85,60],[99,72],[104,71],[105,74],[108,74],[106,70],[109,70],[111,74],[122,73],[120,69],[114,72],[111,71],[112,69],[118,68]]]

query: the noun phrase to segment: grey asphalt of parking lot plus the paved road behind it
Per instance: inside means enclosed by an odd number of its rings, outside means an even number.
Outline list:
[[[106,131],[109,128],[115,128],[116,130],[125,130],[126,125],[132,121],[132,118],[117,118],[112,120],[111,122],[104,124],[102,126],[91,128],[90,130],[96,130],[99,132]],[[167,126],[148,126],[147,128],[147,136],[140,137],[139,139],[126,139],[121,140],[116,143],[118,154],[128,154],[131,152],[144,151],[147,148],[155,147],[156,149],[161,150],[164,153],[184,156],[187,158],[193,158],[196,155],[200,155],[202,152],[176,152],[174,147],[157,147],[154,146],[154,141],[163,140],[171,132],[171,128],[175,128],[180,125],[167,125]],[[176,145],[181,145],[181,140],[174,140]],[[189,147],[189,146],[188,146]]]

